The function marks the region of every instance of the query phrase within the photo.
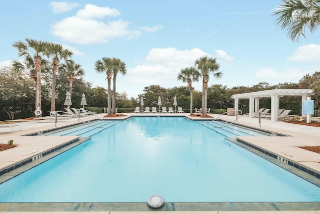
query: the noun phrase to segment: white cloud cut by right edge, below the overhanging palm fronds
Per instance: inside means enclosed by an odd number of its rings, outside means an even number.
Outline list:
[[[320,45],[303,45],[294,50],[293,55],[287,57],[293,62],[320,62]]]

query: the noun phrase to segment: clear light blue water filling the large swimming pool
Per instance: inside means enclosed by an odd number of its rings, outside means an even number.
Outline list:
[[[94,124],[108,128],[60,132],[92,138],[2,183],[0,202],[320,201],[319,187],[225,139],[259,133],[181,117]]]

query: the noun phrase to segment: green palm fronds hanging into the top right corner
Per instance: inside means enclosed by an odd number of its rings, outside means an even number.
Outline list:
[[[320,25],[320,2],[318,0],[282,0],[282,4],[272,13],[275,24],[287,32],[294,42],[300,36],[305,38],[305,29],[311,33]]]

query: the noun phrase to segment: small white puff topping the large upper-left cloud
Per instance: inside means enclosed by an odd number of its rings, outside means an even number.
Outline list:
[[[83,19],[99,19],[107,16],[119,16],[120,12],[116,9],[108,7],[98,7],[91,4],[86,4],[84,9],[79,10],[75,16]]]

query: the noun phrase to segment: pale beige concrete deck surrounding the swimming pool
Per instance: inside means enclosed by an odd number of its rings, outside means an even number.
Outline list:
[[[123,120],[128,117],[133,116],[186,116],[190,119],[203,119],[198,117],[189,117],[189,114],[167,114],[167,113],[158,113],[158,114],[144,114],[144,113],[124,113],[127,115],[126,117],[116,117],[116,118],[103,118],[106,120]],[[102,117],[105,114],[98,114],[98,117]],[[220,115],[209,114],[213,118],[208,118],[208,120],[212,120],[217,118]],[[96,116],[88,116],[81,118],[83,121],[89,121],[97,119]],[[236,118],[235,116],[226,116],[221,115],[219,117],[221,120],[226,120],[229,122],[233,122]],[[55,124],[51,120],[42,120],[42,121],[21,121],[17,124],[20,125],[22,131],[18,127],[13,127],[14,133],[12,133],[11,128],[0,128],[0,143],[7,143],[8,140],[13,140],[13,143],[18,144],[18,147],[4,150],[0,152],[0,170],[11,166],[15,163],[21,162],[30,157],[35,157],[42,152],[49,150],[51,148],[55,148],[65,142],[74,141],[77,139],[76,136],[66,136],[66,137],[56,137],[56,136],[25,136],[30,133],[38,133],[48,129],[64,127],[72,124],[79,123],[78,119],[70,119],[70,120],[58,120]],[[286,137],[282,136],[270,136],[270,137],[238,137],[240,140],[249,142],[259,148],[262,148],[266,151],[272,152],[280,157],[283,157],[282,161],[291,160],[300,164],[301,166],[305,166],[309,169],[314,170],[315,172],[320,173],[320,154],[307,151],[298,146],[315,146],[320,145],[320,128],[312,127],[312,126],[304,126],[304,125],[297,125],[297,124],[290,124],[285,123],[283,121],[273,122],[267,119],[261,119],[261,123],[259,124],[258,118],[249,118],[247,116],[242,116],[238,118],[237,124],[246,125],[250,127],[255,127],[263,130],[268,130],[271,132],[281,133],[288,135]],[[36,162],[36,161],[35,161]],[[18,170],[18,169],[15,169]],[[13,171],[15,171],[13,170]],[[10,172],[9,172],[10,173]],[[7,173],[7,174],[9,174]],[[2,175],[4,176],[4,175]],[[316,203],[312,210],[294,210],[292,208],[282,208],[281,211],[277,211],[278,209],[275,208],[274,210],[261,210],[256,209],[255,211],[246,211],[245,209],[233,210],[232,211],[225,211],[225,209],[218,209],[216,211],[170,211],[170,213],[175,214],[184,214],[184,213],[203,213],[203,214],[240,214],[240,213],[279,213],[279,214],[286,214],[286,213],[318,213],[320,214],[320,206],[319,203]],[[262,205],[263,206],[263,205]],[[48,210],[43,209],[43,211],[36,211],[36,213],[63,213],[62,210]],[[72,209],[66,211],[66,213],[70,214],[73,213]],[[75,209],[73,209],[75,210]],[[74,213],[86,213],[87,209],[77,209]],[[102,209],[103,210],[103,209]],[[134,209],[132,209],[134,210]],[[214,209],[215,210],[215,209]],[[251,209],[252,210],[252,209]],[[7,204],[7,203],[0,203],[0,213],[30,213],[28,211],[32,210],[19,210],[14,208],[14,203]],[[33,210],[34,211],[34,210]],[[154,211],[88,211],[87,213],[108,213],[108,214],[124,214],[124,213],[167,213],[167,211],[161,210],[154,210]]]

